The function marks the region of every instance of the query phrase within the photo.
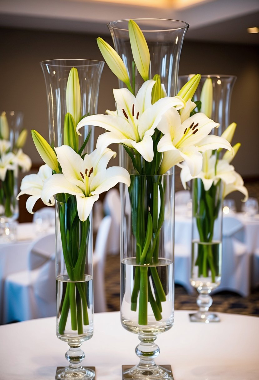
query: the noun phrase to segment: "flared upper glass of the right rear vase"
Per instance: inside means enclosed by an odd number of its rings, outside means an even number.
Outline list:
[[[181,75],[178,77],[178,88],[180,89],[188,80],[190,75]],[[212,133],[221,136],[224,130],[229,126],[230,104],[232,90],[237,79],[234,75],[205,74],[201,76],[201,81],[194,94],[193,101],[200,100],[201,90],[207,78],[212,80],[213,98],[212,98],[212,115],[211,119],[220,123],[218,128],[213,128]]]

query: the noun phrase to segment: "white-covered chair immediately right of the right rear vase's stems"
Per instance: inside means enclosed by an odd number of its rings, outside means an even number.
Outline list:
[[[229,290],[245,297],[250,293],[250,256],[244,242],[243,223],[223,217],[222,276],[215,291]]]

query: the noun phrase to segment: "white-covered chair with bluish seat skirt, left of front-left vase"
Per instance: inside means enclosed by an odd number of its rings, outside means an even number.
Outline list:
[[[36,261],[32,260],[33,269],[16,272],[5,278],[3,323],[55,315],[55,234],[44,236],[35,244],[43,245],[47,240],[49,251],[41,265],[37,261],[34,267]],[[44,248],[42,252],[45,254],[46,246]]]

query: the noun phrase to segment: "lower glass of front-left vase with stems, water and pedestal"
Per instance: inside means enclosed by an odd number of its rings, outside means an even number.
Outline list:
[[[56,201],[57,337],[69,345],[69,366],[57,370],[59,380],[95,378],[92,369],[81,365],[81,344],[93,336],[92,258],[92,214],[82,222],[74,196],[66,203]]]

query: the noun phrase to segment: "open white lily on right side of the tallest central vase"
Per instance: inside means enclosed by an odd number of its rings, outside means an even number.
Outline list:
[[[191,108],[191,103],[189,106]],[[164,134],[158,142],[158,152],[164,152],[160,165],[160,174],[166,173],[172,166],[186,161],[192,176],[202,169],[202,154],[207,149],[223,147],[232,150],[226,139],[220,136],[208,135],[219,124],[199,112],[185,119],[175,108],[169,109],[158,123],[157,128]]]

